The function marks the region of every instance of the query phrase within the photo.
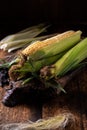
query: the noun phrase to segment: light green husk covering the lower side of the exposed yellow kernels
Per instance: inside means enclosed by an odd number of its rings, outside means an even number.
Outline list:
[[[68,33],[68,31],[65,33]],[[58,39],[58,41],[54,42],[53,44],[48,44],[40,49],[35,50],[35,52],[33,51],[33,53],[29,54],[29,57],[32,60],[39,60],[39,59],[43,59],[46,57],[59,54],[63,51],[67,51],[68,49],[73,47],[75,44],[77,44],[81,40],[81,34],[82,34],[81,31],[76,31],[72,35],[63,38],[62,40]],[[60,34],[60,35],[63,35],[63,34]],[[50,39],[47,39],[47,41],[45,42],[49,42],[49,40]],[[55,40],[55,37],[54,37],[54,40]]]

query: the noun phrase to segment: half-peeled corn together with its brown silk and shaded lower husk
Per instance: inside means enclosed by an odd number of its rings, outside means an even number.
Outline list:
[[[10,79],[14,80],[15,77],[16,79],[19,78],[21,73],[39,71],[41,67],[56,62],[60,58],[60,56],[62,56],[66,52],[67,49],[74,46],[80,40],[80,37],[81,31],[68,31],[55,37],[49,38],[47,40],[43,40],[42,42],[40,41],[31,44],[22,51],[22,59],[20,57],[17,58],[17,62],[19,61],[18,64],[13,65],[10,68]],[[34,50],[36,53],[34,53],[33,55]],[[44,53],[42,54],[43,50]],[[34,56],[33,59],[32,56]],[[27,60],[25,61],[23,57],[26,57]],[[26,69],[27,72],[24,72],[25,68],[28,68]],[[14,74],[16,76],[14,76]]]

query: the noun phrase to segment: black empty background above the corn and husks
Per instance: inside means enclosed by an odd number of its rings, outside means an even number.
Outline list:
[[[87,28],[86,0],[2,0],[0,38],[28,26],[47,22],[57,29]]]

